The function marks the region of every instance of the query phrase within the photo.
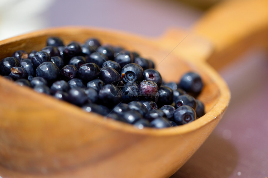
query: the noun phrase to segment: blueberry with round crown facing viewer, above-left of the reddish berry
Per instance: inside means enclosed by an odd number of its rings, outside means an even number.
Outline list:
[[[139,81],[143,77],[143,69],[134,63],[126,64],[122,68],[121,76],[123,77],[124,83]]]

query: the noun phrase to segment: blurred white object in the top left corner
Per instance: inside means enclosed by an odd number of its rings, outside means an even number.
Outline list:
[[[47,26],[42,13],[53,0],[0,0],[0,40]]]

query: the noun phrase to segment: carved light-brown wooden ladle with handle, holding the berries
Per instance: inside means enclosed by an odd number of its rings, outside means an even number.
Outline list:
[[[258,6],[254,15],[242,14],[246,15],[243,18],[256,17],[254,23],[229,24],[235,18],[220,21],[229,9],[237,9],[232,14],[237,17],[239,12],[253,5]],[[242,49],[238,42],[248,37],[254,39],[251,44],[256,43],[263,34],[259,32],[268,29],[265,7],[267,1],[264,0],[219,4],[193,28],[199,35],[171,30],[159,39],[149,39],[112,30],[63,27],[1,41],[0,59],[20,49],[40,50],[49,36],[59,36],[65,43],[96,37],[152,58],[165,81],[179,81],[184,72],[196,71],[205,84],[199,99],[205,103],[206,114],[182,126],[139,130],[86,113],[72,104],[0,77],[0,175],[38,178],[171,176],[212,132],[230,100],[226,83],[205,60],[213,64],[218,59],[214,56],[228,58],[227,49]],[[210,32],[216,19],[225,25],[217,29],[220,36]],[[254,28],[245,28],[250,24],[254,24]],[[233,38],[241,29],[245,30],[244,35]]]

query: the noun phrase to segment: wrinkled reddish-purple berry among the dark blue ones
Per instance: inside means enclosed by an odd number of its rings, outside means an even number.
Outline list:
[[[143,80],[139,85],[139,94],[144,98],[152,98],[156,95],[158,86],[155,82],[150,80]]]

